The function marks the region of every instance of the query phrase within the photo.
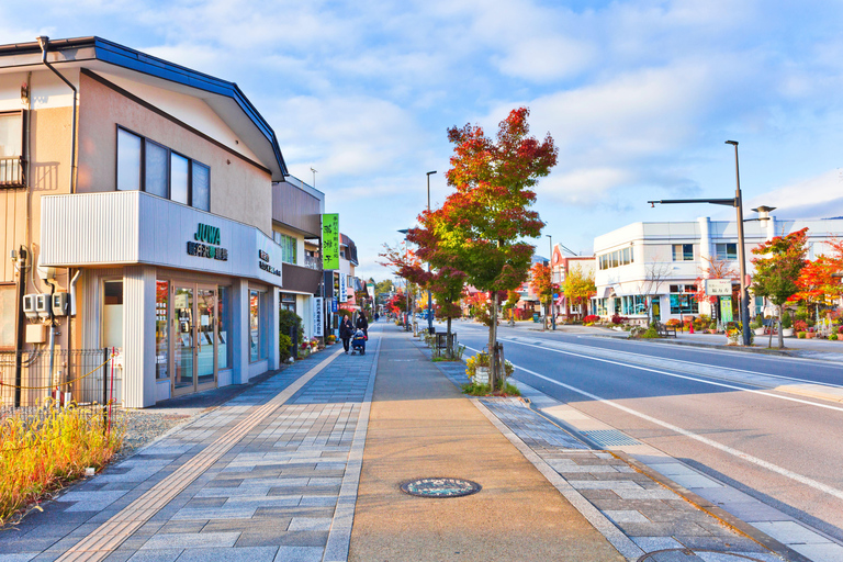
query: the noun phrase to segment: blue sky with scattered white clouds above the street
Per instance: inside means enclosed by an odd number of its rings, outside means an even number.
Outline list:
[[[359,277],[451,192],[447,130],[530,109],[559,161],[535,205],[576,252],[634,222],[843,215],[843,2],[29,0],[0,43],[98,35],[237,82],[290,172],[326,198]],[[311,169],[315,169],[314,175]]]

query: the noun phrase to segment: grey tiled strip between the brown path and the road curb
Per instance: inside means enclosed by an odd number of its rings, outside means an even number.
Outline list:
[[[462,363],[437,366],[454,384],[468,382]],[[587,502],[596,508],[597,514],[587,506],[581,512],[629,560],[647,553],[653,562],[782,560],[610,452],[591,449],[524,401],[477,402],[535,453],[537,468],[543,463],[561,477],[558,483],[549,480],[572,504],[581,508]],[[612,538],[617,531],[628,540]]]

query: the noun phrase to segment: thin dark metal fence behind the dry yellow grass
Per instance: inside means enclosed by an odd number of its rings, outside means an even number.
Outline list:
[[[0,351],[0,418],[48,398],[80,406],[120,402],[123,370],[111,349]]]

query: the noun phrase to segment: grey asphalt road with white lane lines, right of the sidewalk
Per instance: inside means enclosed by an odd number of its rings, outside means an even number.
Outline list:
[[[483,326],[454,329],[470,348],[487,342]],[[843,366],[507,327],[499,339],[516,379],[843,540],[843,404],[689,374],[706,366],[840,386]]]

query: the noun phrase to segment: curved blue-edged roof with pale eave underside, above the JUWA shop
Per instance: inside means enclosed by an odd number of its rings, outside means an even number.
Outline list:
[[[0,45],[0,74],[41,66],[41,55],[37,41]],[[47,60],[59,70],[83,67],[133,79],[139,74],[151,86],[202,98],[260,158],[273,181],[288,175],[274,131],[234,82],[95,36],[49,40]]]

